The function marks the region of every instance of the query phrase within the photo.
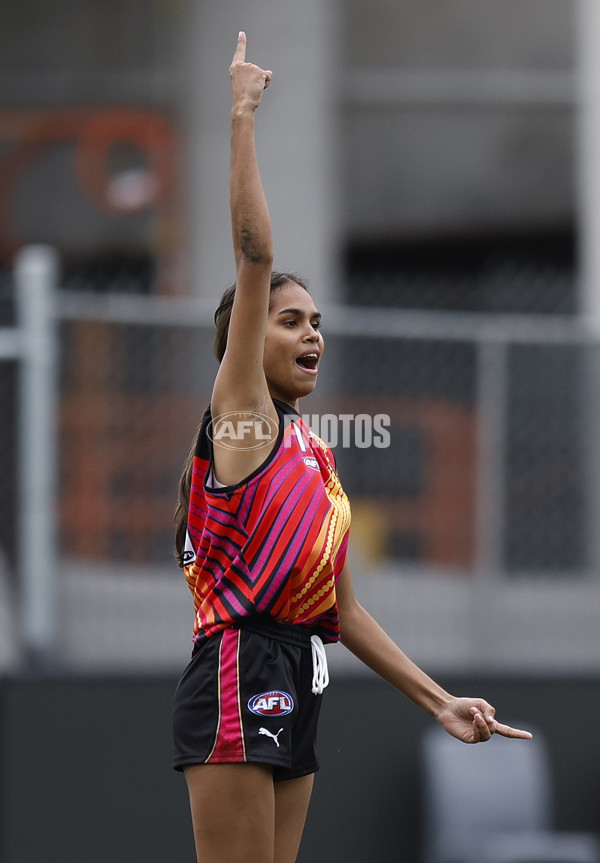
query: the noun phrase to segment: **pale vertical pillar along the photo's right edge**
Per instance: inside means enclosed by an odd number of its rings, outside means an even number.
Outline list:
[[[579,311],[592,343],[600,342],[600,3],[577,0],[577,217]],[[600,573],[600,349],[588,350],[586,405],[587,565]]]

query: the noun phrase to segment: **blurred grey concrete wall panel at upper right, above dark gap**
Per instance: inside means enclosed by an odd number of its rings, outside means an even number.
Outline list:
[[[346,232],[568,223],[576,11],[569,0],[347,4]]]

